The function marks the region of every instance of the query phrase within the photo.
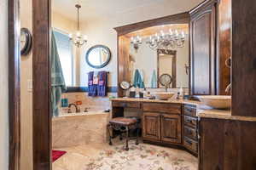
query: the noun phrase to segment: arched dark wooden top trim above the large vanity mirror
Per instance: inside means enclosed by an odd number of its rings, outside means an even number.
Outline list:
[[[172,14],[165,17],[161,17],[154,20],[146,20],[143,22],[137,22],[131,25],[119,26],[113,28],[118,32],[118,36],[124,36],[125,34],[131,33],[132,31],[142,30],[151,26],[162,26],[169,24],[188,24],[189,13]]]

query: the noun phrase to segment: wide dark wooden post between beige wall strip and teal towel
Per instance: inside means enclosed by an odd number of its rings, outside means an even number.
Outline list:
[[[51,1],[32,1],[33,169],[51,169],[50,9]]]

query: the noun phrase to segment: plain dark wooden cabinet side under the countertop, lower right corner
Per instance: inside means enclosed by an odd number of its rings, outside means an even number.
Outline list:
[[[199,170],[255,170],[256,122],[201,117]]]

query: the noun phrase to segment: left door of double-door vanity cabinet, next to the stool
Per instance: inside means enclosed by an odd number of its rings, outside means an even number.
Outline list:
[[[143,139],[160,140],[160,114],[154,112],[143,113]]]

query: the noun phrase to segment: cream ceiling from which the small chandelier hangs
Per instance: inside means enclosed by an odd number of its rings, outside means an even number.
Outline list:
[[[76,3],[82,5],[81,20],[96,20],[102,17],[115,17],[142,11],[155,14],[165,10],[166,14],[188,11],[203,0],[52,0],[52,10],[70,20],[77,20]],[[175,11],[174,11],[175,12]],[[175,13],[174,13],[175,14]]]

